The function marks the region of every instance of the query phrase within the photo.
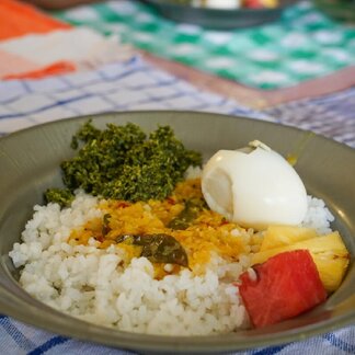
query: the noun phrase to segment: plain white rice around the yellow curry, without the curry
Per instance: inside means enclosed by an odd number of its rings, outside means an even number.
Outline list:
[[[28,294],[73,317],[129,332],[206,335],[249,325],[238,288],[230,282],[230,275],[237,279],[249,268],[247,255],[231,264],[215,256],[203,276],[183,270],[157,280],[146,257],[134,259],[124,270],[117,248],[101,250],[94,240],[89,245],[67,243],[73,228],[102,216],[96,204],[95,197],[78,193],[70,208],[34,207],[22,242],[10,252],[15,267],[22,267],[20,284]],[[324,203],[309,197],[304,225],[323,233],[331,220]]]

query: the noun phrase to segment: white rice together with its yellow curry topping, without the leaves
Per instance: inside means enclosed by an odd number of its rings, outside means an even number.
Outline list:
[[[55,309],[122,331],[207,335],[248,328],[236,282],[262,237],[208,209],[185,230],[168,228],[191,197],[201,197],[198,179],[163,202],[100,201],[79,191],[69,208],[36,205],[22,243],[10,252],[22,267],[20,284]],[[322,202],[310,197],[309,205],[307,226],[328,231],[332,216]],[[110,230],[103,233],[105,215]],[[117,242],[147,233],[173,236],[188,267],[152,263],[139,248]]]

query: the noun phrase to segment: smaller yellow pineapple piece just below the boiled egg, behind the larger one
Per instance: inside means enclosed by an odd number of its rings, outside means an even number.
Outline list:
[[[312,228],[291,226],[270,226],[264,234],[260,251],[285,247],[317,237]]]

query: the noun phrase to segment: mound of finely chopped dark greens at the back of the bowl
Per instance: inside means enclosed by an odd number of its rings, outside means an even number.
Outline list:
[[[105,198],[161,201],[190,165],[202,163],[201,154],[185,149],[169,126],[160,126],[147,137],[131,123],[107,124],[100,130],[88,122],[73,136],[71,147],[79,149],[78,154],[60,165],[67,188],[47,191],[48,202],[68,204],[77,188]]]

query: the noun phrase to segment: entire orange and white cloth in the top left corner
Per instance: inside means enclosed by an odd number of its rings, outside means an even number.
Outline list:
[[[0,3],[0,79],[42,78],[131,56],[118,35],[71,27],[26,4]]]

